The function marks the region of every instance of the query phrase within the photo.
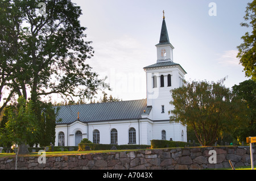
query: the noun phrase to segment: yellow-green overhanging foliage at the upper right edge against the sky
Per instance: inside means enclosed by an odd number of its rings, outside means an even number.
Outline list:
[[[256,81],[256,0],[248,3],[246,7],[246,14],[243,17],[246,22],[241,23],[242,27],[250,27],[251,33],[246,32],[244,36],[241,37],[243,43],[238,46],[237,57],[240,58],[240,63],[244,67],[245,75],[251,77]]]

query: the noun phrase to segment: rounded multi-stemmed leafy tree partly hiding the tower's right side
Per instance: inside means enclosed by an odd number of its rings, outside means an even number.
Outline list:
[[[243,104],[222,81],[184,81],[183,87],[172,90],[170,120],[193,129],[204,146],[213,145],[221,132],[231,132],[243,117]]]

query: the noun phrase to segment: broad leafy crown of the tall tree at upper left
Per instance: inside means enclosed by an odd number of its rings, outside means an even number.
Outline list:
[[[90,99],[104,87],[85,62],[94,51],[85,40],[79,6],[71,0],[2,0],[0,7],[0,98],[9,89],[1,109],[13,95],[33,102],[56,93]]]

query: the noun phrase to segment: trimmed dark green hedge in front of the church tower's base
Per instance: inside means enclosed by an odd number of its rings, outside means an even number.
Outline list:
[[[151,148],[174,148],[186,146],[199,146],[199,144],[193,145],[191,142],[183,141],[151,140]]]

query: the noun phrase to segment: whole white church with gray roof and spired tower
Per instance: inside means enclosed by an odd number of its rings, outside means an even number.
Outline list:
[[[60,106],[55,146],[77,146],[83,138],[95,144],[150,145],[151,140],[187,142],[187,128],[170,123],[171,90],[182,85],[187,74],[173,60],[163,16],[157,61],[144,67],[147,98],[121,102]]]

